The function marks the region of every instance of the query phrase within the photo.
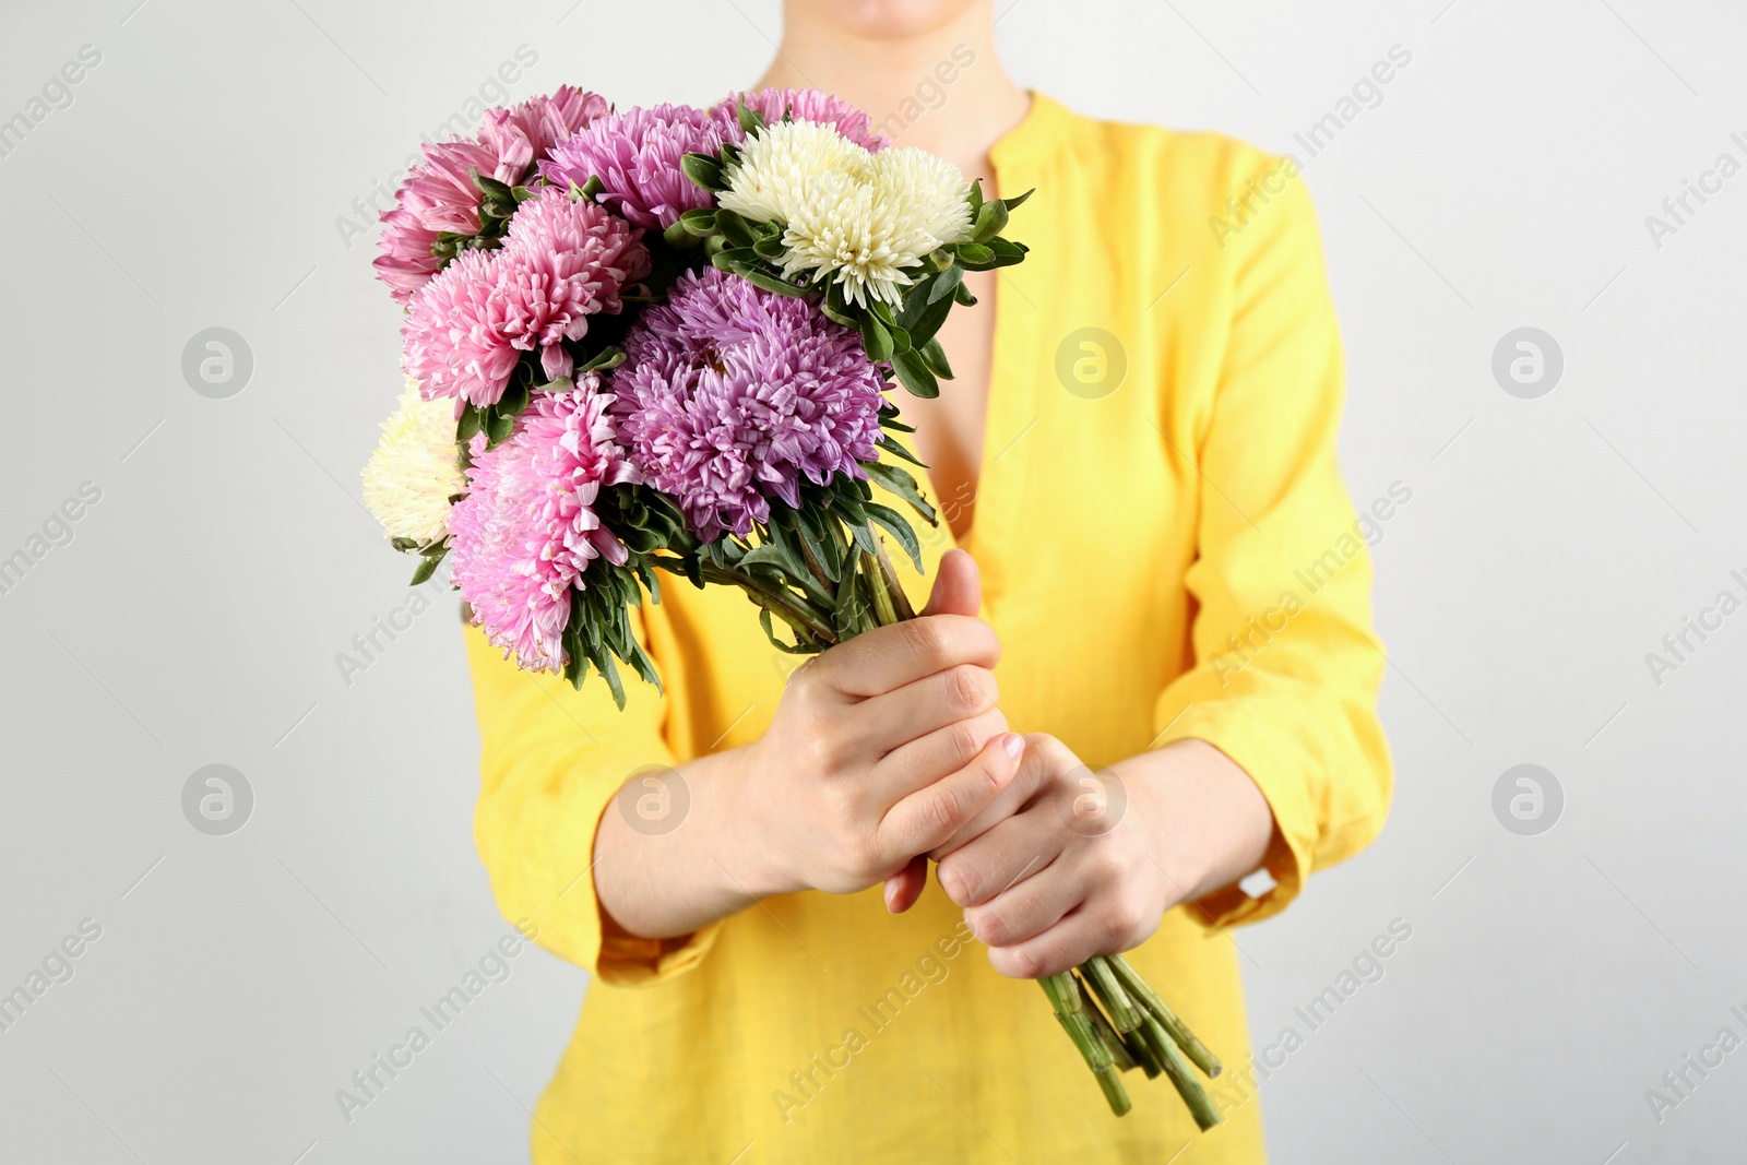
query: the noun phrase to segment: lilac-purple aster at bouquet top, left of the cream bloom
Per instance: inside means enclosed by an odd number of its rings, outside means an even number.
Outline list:
[[[688,210],[713,206],[715,199],[680,169],[685,154],[718,154],[723,141],[739,136],[728,114],[690,105],[629,108],[599,117],[552,150],[540,164],[547,182],[570,187],[601,180],[597,199],[650,231],[664,231]]]

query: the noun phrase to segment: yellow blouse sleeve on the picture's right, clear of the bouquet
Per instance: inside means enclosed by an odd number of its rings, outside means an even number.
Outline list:
[[[1274,810],[1275,886],[1204,900],[1218,926],[1282,910],[1312,870],[1364,849],[1392,788],[1364,536],[1375,526],[1356,519],[1336,465],[1340,330],[1303,176],[1286,185],[1223,253],[1226,348],[1197,428],[1193,665],[1153,725],[1155,746],[1218,748]]]

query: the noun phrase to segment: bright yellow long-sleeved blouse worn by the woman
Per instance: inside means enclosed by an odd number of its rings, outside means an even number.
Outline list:
[[[519,672],[466,632],[493,889],[597,980],[535,1114],[540,1165],[1263,1160],[1221,927],[1363,849],[1391,793],[1315,218],[1282,159],[1045,96],[991,157],[1001,194],[1036,187],[1008,231],[1031,255],[994,297],[968,538],[1001,706],[1094,767],[1207,741],[1279,823],[1274,889],[1170,910],[1130,955],[1228,1065],[1226,1123],[1197,1134],[1137,1072],[1111,1116],[1043,992],[989,968],[933,879],[900,917],[874,887],[772,898],[687,940],[603,938],[590,865],[615,789],[755,741],[795,662],[735,589],[669,576],[643,620],[667,695],[627,676],[624,713],[597,679]],[[952,534],[921,533],[931,575]],[[894,557],[921,606],[928,582]]]

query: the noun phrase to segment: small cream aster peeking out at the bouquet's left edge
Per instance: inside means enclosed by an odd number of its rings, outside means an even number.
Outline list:
[[[454,445],[454,402],[425,400],[407,377],[400,407],[363,466],[363,505],[390,538],[425,545],[449,534],[449,498],[466,493]]]

